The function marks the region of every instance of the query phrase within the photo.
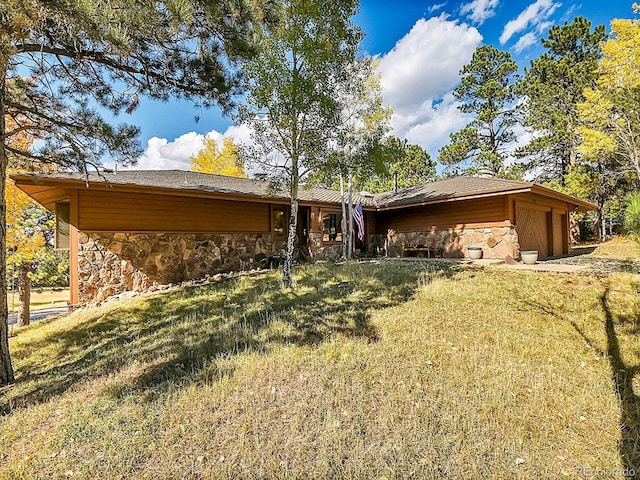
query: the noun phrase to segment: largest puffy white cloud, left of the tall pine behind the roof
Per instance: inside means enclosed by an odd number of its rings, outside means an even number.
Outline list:
[[[394,135],[437,156],[449,133],[467,123],[451,91],[481,42],[476,28],[441,15],[418,20],[381,58],[384,100],[394,108]]]

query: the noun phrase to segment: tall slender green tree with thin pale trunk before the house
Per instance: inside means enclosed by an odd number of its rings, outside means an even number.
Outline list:
[[[337,93],[362,38],[351,22],[357,11],[357,0],[285,0],[281,23],[247,64],[249,94],[238,119],[255,132],[251,157],[291,200],[285,286],[291,286],[301,182],[324,167],[341,125]]]

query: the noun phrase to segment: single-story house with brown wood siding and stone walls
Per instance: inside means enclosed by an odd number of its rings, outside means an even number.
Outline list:
[[[56,243],[70,250],[71,304],[101,301],[206,275],[266,266],[284,252],[289,200],[260,180],[185,171],[12,175],[57,216]],[[365,218],[361,252],[427,251],[485,258],[569,253],[569,214],[597,206],[530,182],[456,177],[393,192],[354,195]],[[299,255],[341,253],[340,193],[302,188]]]

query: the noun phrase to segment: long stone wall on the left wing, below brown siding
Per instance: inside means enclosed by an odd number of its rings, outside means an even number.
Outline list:
[[[282,250],[281,250],[282,249]],[[266,267],[284,252],[270,234],[83,233],[78,239],[78,299],[101,302],[126,291]]]

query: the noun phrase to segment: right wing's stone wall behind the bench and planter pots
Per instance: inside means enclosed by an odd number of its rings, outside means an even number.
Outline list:
[[[379,235],[384,238],[384,235]],[[378,239],[378,242],[381,239]],[[483,258],[516,259],[520,256],[518,234],[514,227],[462,228],[429,232],[396,233],[386,235],[387,255],[402,256],[403,246],[431,246],[440,249],[445,257],[466,257],[468,247],[482,247]]]

